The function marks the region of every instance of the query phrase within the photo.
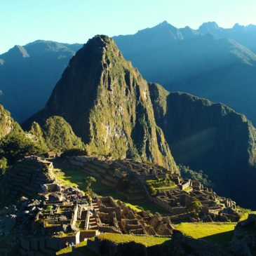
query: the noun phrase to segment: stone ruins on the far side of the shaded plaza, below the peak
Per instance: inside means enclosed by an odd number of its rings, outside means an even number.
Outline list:
[[[124,193],[128,199],[144,199],[156,203],[168,210],[171,220],[187,220],[205,222],[237,221],[236,203],[230,198],[218,196],[213,189],[204,187],[201,182],[182,179],[166,168],[151,163],[139,163],[132,159],[112,160],[90,156],[74,156],[67,159],[70,168],[86,170],[96,176],[102,183],[112,189],[118,188],[122,180],[128,180],[132,189]],[[147,188],[147,180],[170,179],[174,186],[167,189],[157,189],[157,195],[151,196]],[[189,212],[191,201],[202,204],[199,219]]]

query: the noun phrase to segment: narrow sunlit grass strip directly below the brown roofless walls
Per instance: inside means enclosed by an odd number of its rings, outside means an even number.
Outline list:
[[[133,236],[133,235],[127,235],[127,234],[124,235],[124,234],[110,234],[110,233],[101,234],[100,236],[97,236],[97,238],[100,238],[101,240],[109,240],[114,243],[135,242],[135,243],[140,243],[142,245],[145,245],[147,247],[153,246],[153,245],[160,245],[162,243],[166,243],[170,241],[170,237]]]

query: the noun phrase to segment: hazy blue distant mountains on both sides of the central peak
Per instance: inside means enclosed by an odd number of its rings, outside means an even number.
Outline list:
[[[256,123],[256,26],[206,22],[177,29],[168,22],[114,36],[148,81],[224,102]],[[0,103],[22,122],[38,112],[81,44],[35,41],[0,55]]]

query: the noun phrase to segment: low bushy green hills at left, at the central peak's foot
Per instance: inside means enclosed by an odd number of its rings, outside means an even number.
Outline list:
[[[32,123],[26,133],[13,120],[10,112],[0,105],[0,163],[7,159],[8,164],[12,165],[27,155],[83,148],[81,139],[76,137],[69,123],[62,117],[51,116],[42,127]]]

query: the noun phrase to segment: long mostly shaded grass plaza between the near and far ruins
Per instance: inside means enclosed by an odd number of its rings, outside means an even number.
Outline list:
[[[72,187],[79,187],[79,189],[84,190],[86,188],[85,182],[83,180],[88,177],[86,173],[82,170],[54,170],[56,177],[63,184],[67,184]],[[116,191],[110,191],[109,187],[103,184],[99,179],[96,178],[96,182],[91,185],[91,189],[99,196],[112,196],[115,199],[119,199],[126,203],[128,206],[134,210],[149,210],[151,213],[160,213],[162,215],[168,215],[168,211],[156,206],[154,203],[147,201],[128,201],[124,196],[117,193]]]

